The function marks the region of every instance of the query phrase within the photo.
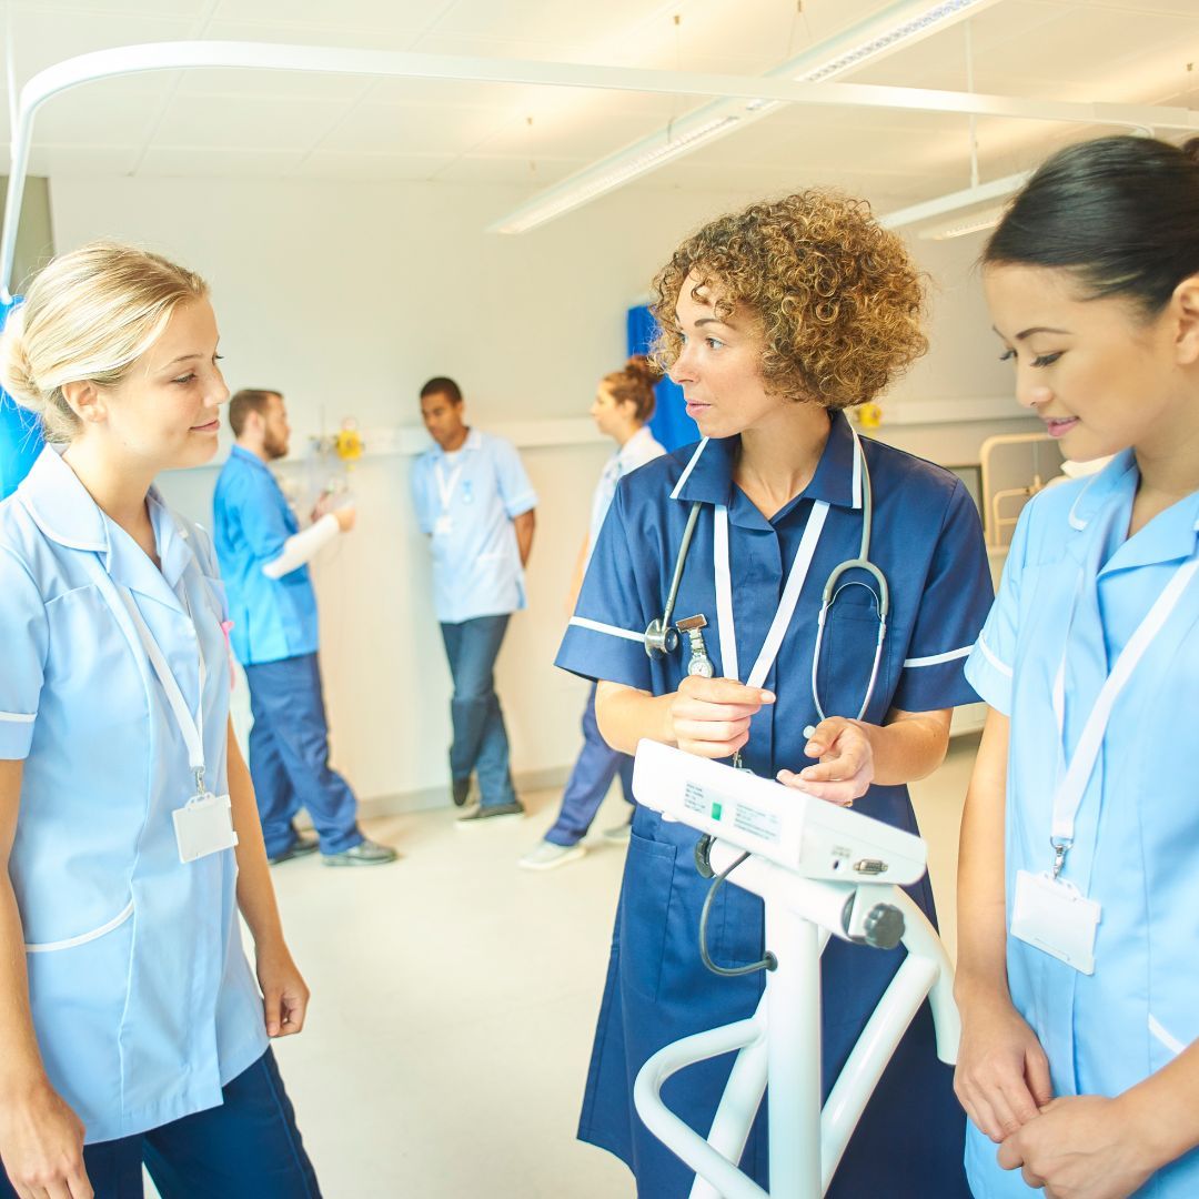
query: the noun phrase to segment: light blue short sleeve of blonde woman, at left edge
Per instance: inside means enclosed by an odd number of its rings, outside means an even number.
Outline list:
[[[46,603],[25,565],[0,548],[0,759],[24,761],[46,676]]]

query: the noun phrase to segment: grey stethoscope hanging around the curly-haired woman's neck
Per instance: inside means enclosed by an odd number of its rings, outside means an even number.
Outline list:
[[[821,594],[820,616],[817,621],[817,639],[812,650],[812,699],[815,703],[817,713],[821,721],[827,718],[827,713],[824,710],[824,705],[820,703],[820,650],[824,645],[824,631],[829,610],[832,608],[833,603],[836,603],[837,597],[846,588],[866,588],[874,598],[874,608],[879,621],[878,635],[874,644],[874,663],[870,668],[870,681],[867,683],[866,695],[862,699],[862,706],[857,710],[856,719],[861,719],[866,715],[866,710],[869,707],[870,699],[874,695],[874,687],[879,677],[879,665],[882,661],[882,641],[887,633],[887,616],[891,611],[891,591],[887,586],[886,576],[870,561],[870,528],[874,519],[874,500],[870,488],[869,466],[867,465],[866,454],[862,451],[861,442],[858,442],[856,436],[854,439],[854,448],[857,454],[862,481],[862,542],[857,552],[857,558],[848,558],[845,561],[839,562],[832,568],[832,571],[830,571],[827,579],[825,579],[824,591]],[[679,647],[679,637],[680,633],[682,633],[691,643],[691,656],[687,662],[687,674],[700,675],[710,679],[716,673],[716,668],[707,653],[706,646],[704,645],[703,629],[707,626],[706,617],[703,615],[691,616],[686,620],[680,620],[677,625],[671,623],[675,602],[679,598],[679,585],[682,582],[683,567],[687,562],[687,554],[691,550],[691,542],[695,534],[695,524],[699,520],[699,511],[701,507],[703,501],[695,500],[692,502],[691,511],[687,513],[687,524],[683,529],[682,540],[679,543],[679,553],[675,558],[674,573],[670,577],[670,590],[667,592],[665,608],[663,609],[662,615],[651,621],[649,628],[645,629],[645,652],[655,659],[667,657]],[[878,591],[875,592],[868,586],[868,584],[857,579],[842,583],[842,578],[849,571],[854,570],[864,571],[869,574],[878,584]]]

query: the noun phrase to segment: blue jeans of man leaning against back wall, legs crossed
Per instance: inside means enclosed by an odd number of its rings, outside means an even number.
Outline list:
[[[453,675],[453,745],[450,773],[456,779],[478,776],[483,807],[516,803],[508,772],[508,730],[500,697],[495,694],[495,659],[504,644],[508,617],[477,616],[441,626],[450,674]]]

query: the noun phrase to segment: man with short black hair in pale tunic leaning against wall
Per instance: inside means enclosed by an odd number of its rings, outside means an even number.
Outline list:
[[[519,817],[494,671],[508,617],[525,607],[537,495],[511,442],[466,427],[452,379],[421,388],[421,416],[436,444],[412,465],[412,500],[430,538],[434,601],[453,675],[453,801],[465,805],[474,772],[480,802],[459,821]]]

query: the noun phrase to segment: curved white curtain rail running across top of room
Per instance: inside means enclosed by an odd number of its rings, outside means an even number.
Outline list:
[[[761,76],[652,71],[641,67],[466,58],[403,50],[347,50],[261,42],[147,42],[65,59],[40,71],[20,89],[13,121],[12,167],[5,200],[4,235],[0,241],[0,299],[11,299],[8,289],[12,284],[17,222],[29,169],[34,119],[42,104],[64,91],[101,79],[198,67],[245,67],[267,71],[312,71],[323,74],[531,84],[598,91],[711,96],[746,102],[773,100],[790,104],[960,113],[1077,125],[1109,125],[1143,132],[1155,128],[1199,132],[1199,113],[1186,108],[1025,100],[1017,96],[933,91],[923,88],[882,88],[870,84],[794,83]]]

